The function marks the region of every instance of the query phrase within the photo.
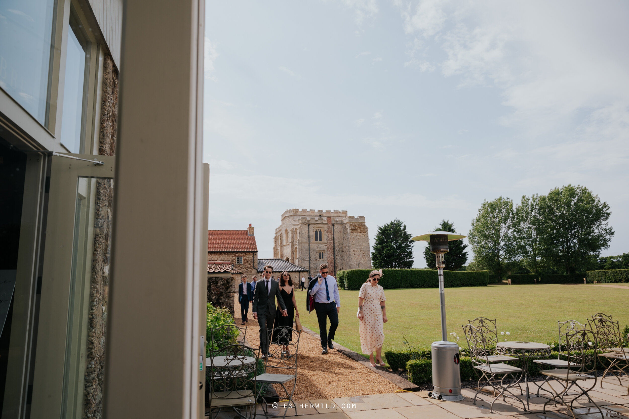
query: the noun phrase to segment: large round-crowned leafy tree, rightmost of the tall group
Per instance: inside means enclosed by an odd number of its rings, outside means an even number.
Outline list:
[[[545,222],[542,253],[555,269],[577,273],[610,247],[610,205],[586,187],[551,190],[540,201],[540,212]]]

